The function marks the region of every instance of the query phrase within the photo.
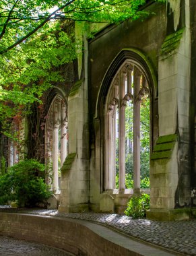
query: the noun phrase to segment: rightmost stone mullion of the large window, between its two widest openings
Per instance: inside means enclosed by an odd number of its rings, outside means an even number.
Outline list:
[[[134,69],[134,98],[133,98],[133,166],[134,192],[140,190],[140,102],[137,95],[140,90],[140,74]]]

